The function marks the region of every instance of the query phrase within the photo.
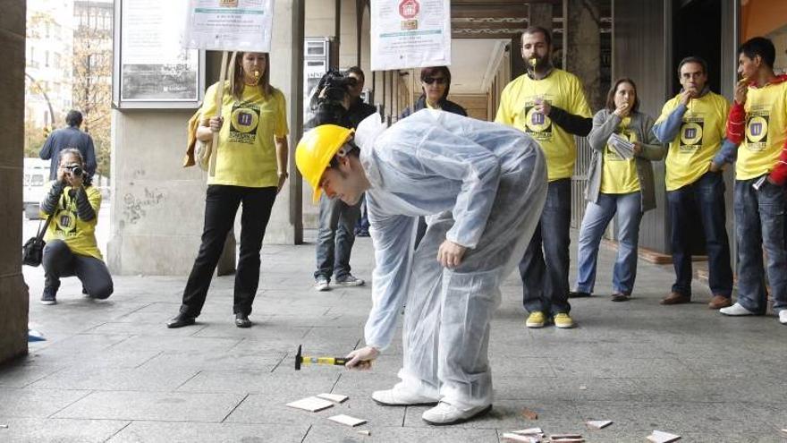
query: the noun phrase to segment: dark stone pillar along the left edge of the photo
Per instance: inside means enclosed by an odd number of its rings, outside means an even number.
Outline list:
[[[28,352],[28,287],[21,274],[25,0],[5,0],[0,14],[0,362]]]

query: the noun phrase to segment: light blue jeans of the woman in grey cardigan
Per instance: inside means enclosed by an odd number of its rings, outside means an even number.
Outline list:
[[[596,285],[596,259],[598,244],[606,226],[618,215],[618,258],[612,274],[615,294],[630,295],[637,278],[637,244],[639,243],[639,220],[642,219],[642,193],[598,194],[596,203],[588,201],[585,217],[580,228],[580,248],[577,251],[579,276],[577,291],[592,293]]]

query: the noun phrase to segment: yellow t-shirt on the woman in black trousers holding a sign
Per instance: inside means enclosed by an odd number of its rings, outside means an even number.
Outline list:
[[[216,115],[216,85],[205,93],[202,119]],[[259,88],[245,87],[237,101],[225,83],[222,115],[224,125],[218,133],[216,175],[207,184],[228,184],[263,188],[278,184],[274,137],[285,137],[286,103],[279,89],[263,98]]]

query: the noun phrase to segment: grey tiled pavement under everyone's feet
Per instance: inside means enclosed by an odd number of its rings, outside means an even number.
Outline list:
[[[372,257],[370,241],[358,239],[353,274],[368,280]],[[519,277],[508,278],[492,325],[494,409],[449,427],[423,422],[425,407],[370,399],[397,380],[398,339],[372,371],[294,371],[298,345],[337,356],[362,345],[370,307],[368,285],[312,289],[314,245],[263,248],[250,329],[233,325],[233,277],[215,279],[197,325],[167,329],[185,276],[115,277],[105,302],[83,298],[68,278],[58,304],[43,306],[43,272],[25,267],[30,328],[47,341],[0,368],[0,441],[498,442],[505,431],[531,427],[588,442],[642,442],[652,430],[683,441],[784,441],[787,328],[773,316],[708,310],[699,283],[695,302],[661,306],[672,268],[641,260],[633,300],[610,302],[613,260],[602,248],[598,296],[572,301],[579,327],[570,330],[525,328]],[[285,406],[323,392],[350,399],[318,413]],[[523,418],[523,408],[537,420]],[[368,423],[351,429],[327,420],[338,413]],[[588,430],[588,420],[614,424]]]

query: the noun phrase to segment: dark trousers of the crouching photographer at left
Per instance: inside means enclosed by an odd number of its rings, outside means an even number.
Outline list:
[[[77,277],[82,287],[92,298],[105,299],[112,295],[114,286],[109,269],[95,257],[78,255],[71,251],[63,240],[52,240],[44,246],[44,291],[60,287],[62,277]]]

